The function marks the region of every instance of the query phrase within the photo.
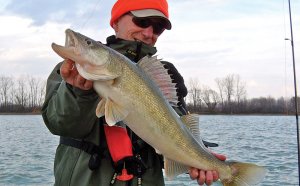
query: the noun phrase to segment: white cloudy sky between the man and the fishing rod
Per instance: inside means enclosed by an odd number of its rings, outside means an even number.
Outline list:
[[[234,73],[249,85],[251,97],[284,96],[282,87],[290,86],[292,71],[288,68],[291,58],[284,38],[289,31],[282,4],[236,1],[232,8],[226,8],[233,4],[216,2],[201,7],[192,2],[198,10],[177,4],[176,9],[189,11],[174,11],[174,29],[159,41],[161,55],[175,63],[185,80],[197,77],[214,87],[216,77]]]

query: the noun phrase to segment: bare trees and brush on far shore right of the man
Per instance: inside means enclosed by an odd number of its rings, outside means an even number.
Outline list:
[[[216,90],[201,86],[198,79],[189,80],[188,110],[205,114],[295,114],[295,97],[247,99],[246,83],[229,74],[216,78]],[[298,103],[300,99],[298,98]],[[299,108],[299,105],[298,105]]]

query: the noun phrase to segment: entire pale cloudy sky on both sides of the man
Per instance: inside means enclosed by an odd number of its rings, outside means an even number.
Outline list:
[[[115,0],[0,0],[0,76],[46,79],[62,59],[67,28],[105,43]],[[240,76],[247,97],[294,95],[288,0],[168,0],[172,29],[156,43],[187,86]],[[300,2],[291,0],[296,72],[300,73]],[[300,83],[297,76],[297,83]]]

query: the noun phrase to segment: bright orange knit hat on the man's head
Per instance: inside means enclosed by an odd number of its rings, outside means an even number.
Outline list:
[[[111,10],[110,26],[123,14],[132,10],[155,9],[169,18],[166,0],[117,0]]]

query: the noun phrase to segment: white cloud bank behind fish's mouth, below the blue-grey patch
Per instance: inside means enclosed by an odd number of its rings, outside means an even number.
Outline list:
[[[0,32],[0,74],[33,74],[47,78],[52,68],[62,61],[52,51],[51,43],[64,44],[64,30],[70,24],[45,22],[42,26],[32,25],[33,20],[19,16],[0,16],[0,21],[18,23],[7,24]],[[104,34],[112,34],[111,29],[82,29],[82,32],[99,40],[105,39]]]

